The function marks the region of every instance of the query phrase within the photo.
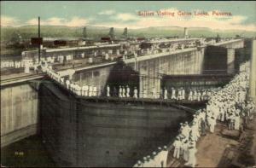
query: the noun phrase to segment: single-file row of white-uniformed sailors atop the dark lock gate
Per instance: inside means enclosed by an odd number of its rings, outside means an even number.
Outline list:
[[[54,72],[51,68],[51,66],[46,67],[47,70],[45,70],[45,67],[42,67],[43,72],[47,72],[49,74],[49,77],[54,78],[59,83],[65,85],[68,90],[71,90],[74,94],[78,96],[102,96],[105,95],[107,97],[119,97],[119,98],[135,98],[137,99],[140,94],[137,87],[130,87],[128,84],[126,85],[119,85],[116,87],[111,87],[107,84],[106,91],[102,91],[102,88],[97,87],[96,85],[90,85],[90,84],[83,84],[79,85],[77,83],[73,83],[72,80],[64,80],[64,78],[61,78],[61,75],[57,72]],[[171,95],[169,96],[168,91],[166,88],[163,90],[162,93],[157,93],[155,88],[151,90],[151,93],[146,94],[146,92],[141,93],[142,98],[152,98],[152,99],[159,99],[162,97],[163,99],[172,99],[176,101],[206,101],[210,96],[212,96],[213,93],[220,90],[219,88],[209,88],[209,89],[193,89],[189,90],[189,92],[186,92],[183,87],[175,90],[172,88]],[[187,94],[186,94],[187,93]],[[189,94],[188,94],[189,93]],[[150,95],[151,94],[151,95]],[[162,95],[161,95],[162,94]]]

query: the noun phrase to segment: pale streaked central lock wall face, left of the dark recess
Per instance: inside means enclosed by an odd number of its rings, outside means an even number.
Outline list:
[[[170,54],[155,59],[137,61],[129,63],[135,67],[140,74],[140,96],[146,91],[147,97],[152,97],[150,91],[155,88],[159,94],[161,74],[166,75],[185,75],[201,74],[204,62],[205,49],[190,49],[187,52]]]

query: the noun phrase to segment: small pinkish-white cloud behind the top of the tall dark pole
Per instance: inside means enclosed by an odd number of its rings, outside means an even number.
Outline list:
[[[67,20],[64,18],[52,17],[48,20],[41,20],[41,25],[48,26],[85,26],[87,25],[89,20],[85,20],[79,17],[73,17],[71,20]],[[37,25],[38,20],[32,19],[26,22],[27,25]]]

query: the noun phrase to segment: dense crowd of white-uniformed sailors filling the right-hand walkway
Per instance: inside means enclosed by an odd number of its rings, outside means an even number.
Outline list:
[[[184,161],[186,166],[195,167],[196,142],[201,136],[213,133],[217,121],[226,125],[229,130],[239,131],[241,141],[242,131],[255,114],[255,103],[247,98],[248,78],[249,71],[240,72],[229,84],[212,92],[207,107],[196,111],[192,122],[180,123],[179,133],[172,143],[173,158]],[[137,161],[134,167],[160,167],[162,162],[166,164],[166,159],[167,154],[158,160],[148,157]]]

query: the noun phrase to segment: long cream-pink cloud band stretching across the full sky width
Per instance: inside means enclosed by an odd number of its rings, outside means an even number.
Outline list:
[[[159,10],[158,10],[159,11]],[[208,27],[211,29],[219,30],[256,30],[256,24],[245,24],[247,16],[244,15],[230,15],[230,16],[216,16],[212,15],[212,11],[208,11],[207,16],[179,16],[177,15],[178,9],[160,9],[162,12],[173,12],[172,15],[157,15],[155,11],[154,16],[141,16],[138,11],[133,13],[117,13],[114,10],[104,10],[96,15],[94,18],[73,17],[71,19],[51,17],[49,19],[41,19],[41,25],[49,26],[113,26],[116,28],[143,28],[148,26],[181,26],[181,27]],[[201,11],[196,9],[195,11]],[[218,11],[218,10],[214,10]],[[194,13],[194,11],[191,11]],[[221,11],[218,11],[221,12]],[[102,14],[106,14],[104,17]],[[112,14],[112,15],[111,15]],[[103,19],[103,21],[102,21]],[[132,20],[132,22],[131,22]],[[93,23],[93,24],[92,24]],[[38,19],[18,20],[15,17],[1,15],[1,26],[24,26],[24,25],[37,25]]]

